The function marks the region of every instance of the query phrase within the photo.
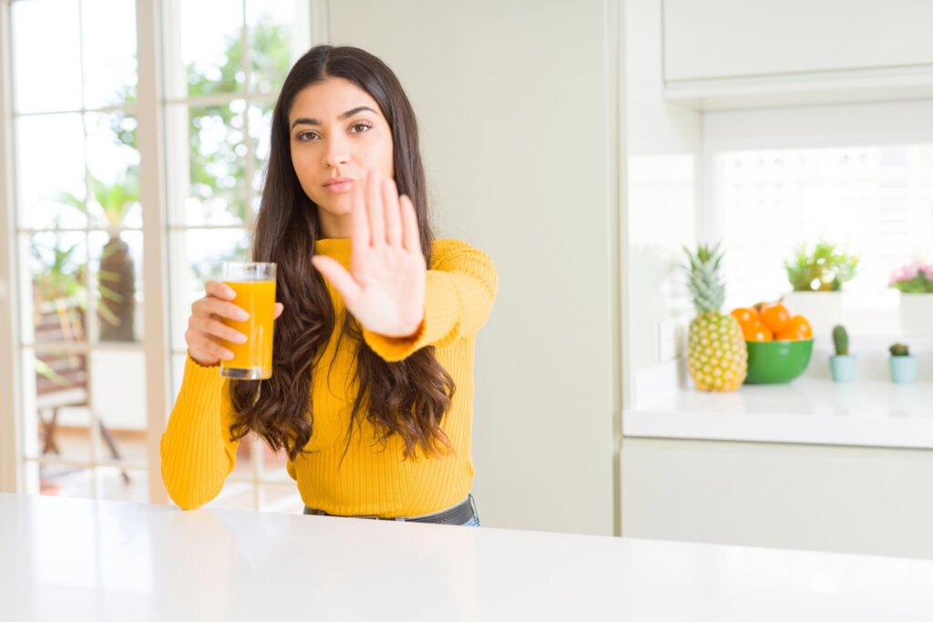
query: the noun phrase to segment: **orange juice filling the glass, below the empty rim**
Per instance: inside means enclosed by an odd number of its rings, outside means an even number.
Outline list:
[[[246,336],[244,343],[224,341],[233,358],[220,361],[220,374],[230,378],[257,380],[272,377],[272,314],[275,308],[274,281],[224,281],[236,297],[231,302],[249,313],[244,322],[223,318],[223,323]]]

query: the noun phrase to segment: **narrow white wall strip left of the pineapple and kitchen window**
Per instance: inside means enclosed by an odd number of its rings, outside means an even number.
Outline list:
[[[625,3],[628,257],[624,266],[630,378],[675,357],[692,313],[676,270],[698,235],[702,115],[663,100],[661,0]],[[626,406],[639,383],[626,392]]]

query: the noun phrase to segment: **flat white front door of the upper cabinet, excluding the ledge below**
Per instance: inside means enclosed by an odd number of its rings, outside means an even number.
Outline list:
[[[928,0],[664,0],[664,77],[933,63]]]

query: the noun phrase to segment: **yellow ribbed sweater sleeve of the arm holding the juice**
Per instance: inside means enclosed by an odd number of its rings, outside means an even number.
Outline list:
[[[217,496],[236,463],[240,441],[230,440],[229,380],[217,366],[202,366],[191,355],[168,425],[162,434],[162,482],[185,510]]]

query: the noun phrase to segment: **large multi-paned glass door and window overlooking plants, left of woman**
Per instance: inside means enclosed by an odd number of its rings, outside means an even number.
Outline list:
[[[0,416],[19,438],[0,472],[21,491],[167,500],[155,460],[190,305],[224,259],[249,254],[272,106],[291,64],[326,38],[313,30],[323,7],[3,2],[12,124],[0,136],[15,188],[0,203],[15,256],[3,276],[19,304],[18,325],[0,327],[19,399]],[[160,122],[160,144],[137,141],[143,118]],[[167,331],[146,330],[165,317]],[[209,505],[303,507],[284,455],[253,435]]]

